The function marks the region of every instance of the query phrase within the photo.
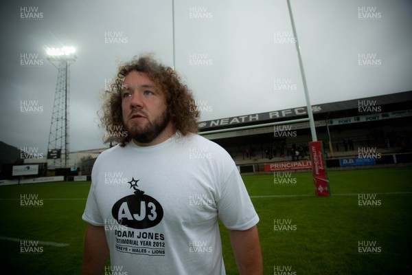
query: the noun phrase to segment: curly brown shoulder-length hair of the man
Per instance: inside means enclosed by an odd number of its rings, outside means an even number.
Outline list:
[[[152,55],[135,56],[132,61],[119,67],[111,91],[106,91],[106,101],[100,115],[101,126],[106,130],[108,140],[125,146],[131,139],[122,117],[123,80],[132,71],[144,73],[165,94],[168,113],[176,130],[183,135],[198,133],[197,120],[200,112],[196,107],[192,92],[183,84],[181,77],[171,67],[155,61]]]

